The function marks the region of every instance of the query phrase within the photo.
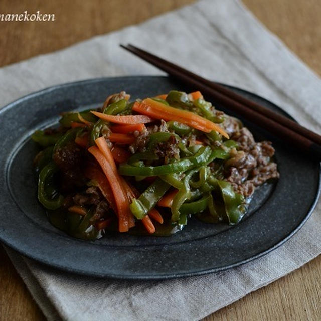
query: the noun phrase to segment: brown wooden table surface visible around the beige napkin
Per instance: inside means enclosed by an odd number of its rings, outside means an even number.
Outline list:
[[[224,1],[224,0],[221,0]],[[320,0],[243,0],[265,26],[310,68],[321,74]],[[192,0],[98,0],[0,2],[1,13],[55,14],[54,22],[1,22],[0,67],[51,52]],[[68,3],[68,5],[67,5]],[[205,320],[321,319],[321,256],[274,283],[213,313]],[[0,320],[45,319],[0,246]]]

